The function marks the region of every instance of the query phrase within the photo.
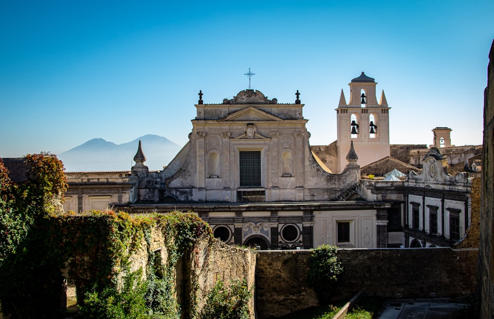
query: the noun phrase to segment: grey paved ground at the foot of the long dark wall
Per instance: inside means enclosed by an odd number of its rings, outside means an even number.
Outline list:
[[[399,299],[383,304],[378,319],[464,319],[469,318],[463,300]]]

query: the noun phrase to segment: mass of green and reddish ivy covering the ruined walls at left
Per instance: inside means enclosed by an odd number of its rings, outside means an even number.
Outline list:
[[[84,318],[177,318],[176,267],[190,260],[197,244],[212,239],[209,226],[193,214],[131,217],[123,212],[60,212],[67,189],[63,165],[55,156],[26,157],[28,181],[13,183],[0,159],[0,303],[15,318],[57,318],[68,268],[77,286]],[[167,261],[150,251],[152,230],[165,239]],[[130,256],[148,246],[146,278],[130,271]],[[194,262],[194,261],[192,261]],[[185,267],[185,263],[182,266]],[[186,315],[197,315],[197,278],[183,289]],[[83,300],[82,300],[83,299]]]

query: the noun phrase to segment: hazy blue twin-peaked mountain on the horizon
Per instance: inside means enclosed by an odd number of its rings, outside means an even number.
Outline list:
[[[68,172],[130,170],[135,164],[133,159],[139,140],[146,156],[144,164],[149,170],[163,169],[181,149],[181,146],[167,138],[151,134],[119,145],[102,138],[93,138],[58,154],[58,159],[62,160]]]

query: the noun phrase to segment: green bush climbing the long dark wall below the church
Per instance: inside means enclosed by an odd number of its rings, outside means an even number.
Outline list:
[[[321,245],[312,251],[312,256],[309,258],[307,280],[316,291],[321,303],[329,301],[332,287],[338,279],[338,275],[343,272],[341,262],[336,256],[337,252],[338,247],[336,246]]]

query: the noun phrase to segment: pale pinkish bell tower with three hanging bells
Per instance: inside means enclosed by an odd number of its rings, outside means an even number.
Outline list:
[[[353,79],[350,86],[350,101],[346,103],[341,90],[336,109],[337,126],[337,168],[340,173],[346,166],[346,155],[353,141],[360,166],[365,166],[390,155],[389,109],[384,91],[377,102],[374,79],[364,72]]]

